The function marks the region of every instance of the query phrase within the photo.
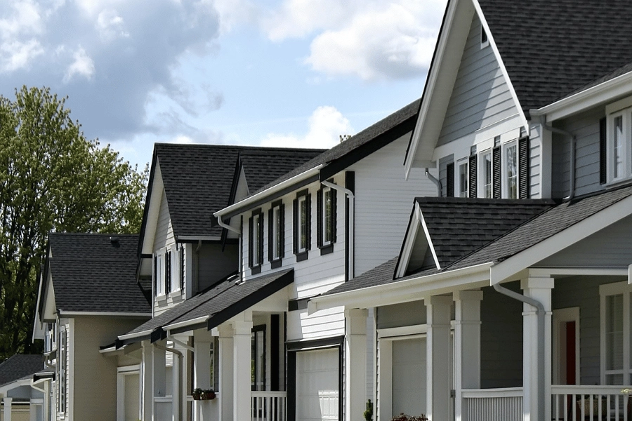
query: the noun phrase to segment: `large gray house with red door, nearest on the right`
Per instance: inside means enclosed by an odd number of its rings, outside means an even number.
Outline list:
[[[448,2],[404,157],[442,197],[308,304],[376,309],[377,420],[631,419],[632,8],[602,6]]]

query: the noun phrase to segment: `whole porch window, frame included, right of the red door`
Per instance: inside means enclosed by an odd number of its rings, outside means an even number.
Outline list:
[[[599,287],[601,312],[601,380],[603,385],[632,382],[632,288],[627,282]]]

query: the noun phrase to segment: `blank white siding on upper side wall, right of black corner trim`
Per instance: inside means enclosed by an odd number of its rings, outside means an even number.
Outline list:
[[[404,180],[410,133],[350,166],[355,171],[355,275],[399,255],[413,199],[436,196],[421,168]]]

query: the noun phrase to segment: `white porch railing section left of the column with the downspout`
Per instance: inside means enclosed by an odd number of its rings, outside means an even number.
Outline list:
[[[463,411],[468,421],[522,421],[522,387],[463,389]]]

